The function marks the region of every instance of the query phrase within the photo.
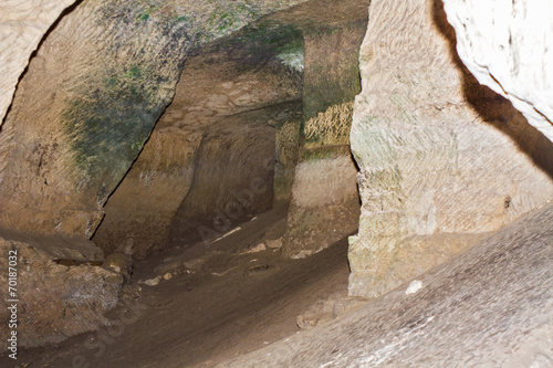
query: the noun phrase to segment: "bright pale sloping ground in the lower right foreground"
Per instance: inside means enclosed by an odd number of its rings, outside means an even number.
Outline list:
[[[335,323],[221,367],[551,367],[553,207]]]

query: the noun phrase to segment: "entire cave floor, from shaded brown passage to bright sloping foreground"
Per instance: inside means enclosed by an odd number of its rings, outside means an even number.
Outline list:
[[[553,367],[553,206],[301,333],[321,301],[351,302],[347,244],[295,261],[244,253],[278,243],[284,214],[137,264],[111,327],[20,351],[17,367]]]

